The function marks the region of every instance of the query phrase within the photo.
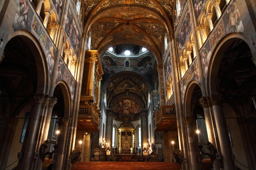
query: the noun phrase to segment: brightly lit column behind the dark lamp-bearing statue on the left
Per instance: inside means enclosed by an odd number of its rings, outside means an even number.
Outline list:
[[[53,106],[57,103],[57,98],[56,97],[48,97],[49,101],[48,101],[48,107],[47,107],[47,114],[46,114],[46,119],[45,119],[45,123],[44,123],[44,129],[43,129],[43,134],[42,134],[42,140],[39,143],[39,147],[40,145],[47,140],[48,137],[48,132],[49,132],[49,126],[50,126],[50,120],[52,118],[52,109]],[[38,158],[37,160],[37,164],[36,164],[36,169],[42,169],[42,164],[43,161],[41,158]]]

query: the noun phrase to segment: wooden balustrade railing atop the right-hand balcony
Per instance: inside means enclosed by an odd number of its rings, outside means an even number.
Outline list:
[[[155,114],[155,126],[159,124],[159,121],[165,117],[176,117],[175,105],[172,106],[161,106],[158,112]]]

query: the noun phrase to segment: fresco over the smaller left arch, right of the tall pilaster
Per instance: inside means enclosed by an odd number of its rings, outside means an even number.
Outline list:
[[[75,84],[76,81],[73,77],[73,75],[70,73],[68,67],[66,66],[65,62],[63,61],[62,57],[60,57],[59,65],[58,65],[58,76],[56,78],[56,82],[58,83],[60,80],[65,81],[70,90],[70,96],[71,100],[74,100],[74,94],[75,94]]]

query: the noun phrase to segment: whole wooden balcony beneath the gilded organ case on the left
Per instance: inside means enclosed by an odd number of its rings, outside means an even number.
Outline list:
[[[78,112],[78,130],[87,132],[100,131],[100,118],[98,111],[91,105],[80,105]]]

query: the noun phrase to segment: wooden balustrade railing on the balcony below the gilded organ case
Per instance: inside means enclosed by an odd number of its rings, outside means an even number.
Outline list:
[[[96,126],[100,125],[100,118],[98,116],[98,112],[96,112],[95,108],[91,105],[80,105],[79,106],[79,115],[84,115],[86,117],[92,117]]]

